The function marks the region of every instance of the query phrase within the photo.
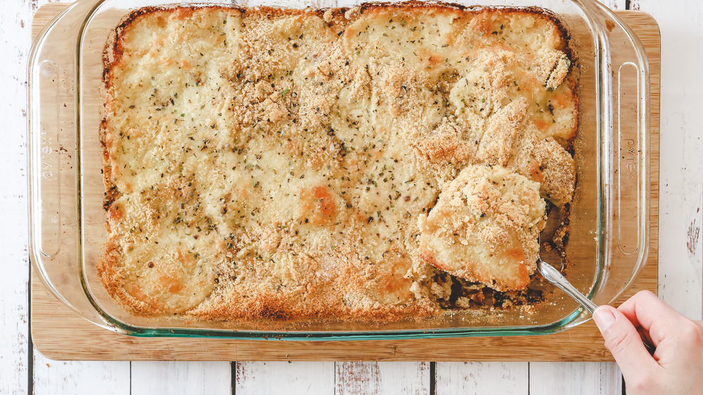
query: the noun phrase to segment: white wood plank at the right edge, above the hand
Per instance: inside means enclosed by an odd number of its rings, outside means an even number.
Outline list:
[[[687,243],[689,228],[703,223],[703,210],[698,210],[703,189],[703,4],[636,3],[657,20],[662,32],[659,296],[685,316],[700,319],[702,262]]]

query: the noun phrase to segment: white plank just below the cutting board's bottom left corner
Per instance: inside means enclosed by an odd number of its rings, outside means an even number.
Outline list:
[[[35,352],[34,394],[129,394],[129,362],[51,361]]]

